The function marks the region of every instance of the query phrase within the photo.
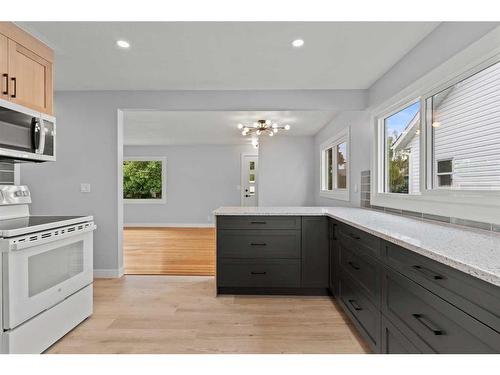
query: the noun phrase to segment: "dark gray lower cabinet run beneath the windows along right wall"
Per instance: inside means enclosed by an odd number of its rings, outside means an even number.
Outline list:
[[[374,352],[500,353],[500,288],[330,225],[330,288]]]

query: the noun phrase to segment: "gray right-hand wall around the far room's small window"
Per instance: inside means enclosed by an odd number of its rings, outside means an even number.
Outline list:
[[[319,195],[320,191],[320,146],[331,137],[336,136],[343,129],[350,127],[350,200],[342,201],[325,198]],[[318,206],[359,206],[361,171],[371,168],[372,127],[370,114],[366,111],[343,112],[326,125],[314,138],[314,196]],[[357,192],[355,191],[357,185]]]

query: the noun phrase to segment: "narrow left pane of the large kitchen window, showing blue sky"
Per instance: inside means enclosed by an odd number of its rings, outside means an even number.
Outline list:
[[[382,127],[383,192],[420,191],[420,102],[384,117]]]

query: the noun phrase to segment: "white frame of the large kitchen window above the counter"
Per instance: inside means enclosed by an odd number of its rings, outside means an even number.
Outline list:
[[[500,36],[500,28],[498,28]],[[433,188],[432,158],[432,113],[427,109],[427,98],[446,88],[467,79],[487,67],[500,62],[500,48],[491,49],[486,44],[482,58],[471,62],[469,51],[464,51],[455,59],[440,65],[435,70],[417,80],[407,89],[395,95],[391,100],[375,108],[370,108],[374,130],[372,150],[372,186],[371,203],[402,210],[427,212],[453,217],[463,217],[486,222],[498,222],[500,190],[459,190],[451,188]],[[489,51],[486,51],[489,48]],[[477,56],[477,55],[476,55]],[[459,63],[456,61],[458,59]],[[462,66],[462,68],[457,68]],[[449,72],[454,73],[449,73]],[[437,82],[437,83],[436,83]],[[399,98],[399,99],[398,99]],[[380,120],[398,110],[420,100],[420,194],[386,193],[381,190],[384,182],[380,177],[381,164],[381,129]]]

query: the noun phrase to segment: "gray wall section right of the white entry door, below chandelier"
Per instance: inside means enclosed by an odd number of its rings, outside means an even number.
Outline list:
[[[314,137],[263,137],[259,206],[314,205]]]

